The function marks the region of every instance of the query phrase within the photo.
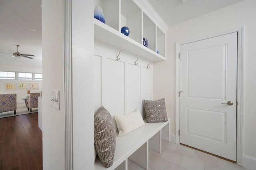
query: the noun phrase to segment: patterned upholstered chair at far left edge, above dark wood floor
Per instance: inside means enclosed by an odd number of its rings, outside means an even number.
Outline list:
[[[16,94],[0,94],[0,113],[14,111],[17,109]]]

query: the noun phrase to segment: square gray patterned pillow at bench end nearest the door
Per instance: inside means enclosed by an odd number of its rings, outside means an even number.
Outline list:
[[[156,101],[143,100],[143,103],[146,112],[147,123],[168,121],[165,108],[165,98]]]

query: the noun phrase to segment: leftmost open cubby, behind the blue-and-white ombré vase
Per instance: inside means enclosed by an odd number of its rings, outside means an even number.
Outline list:
[[[94,9],[96,6],[101,7],[105,24],[119,30],[119,0],[94,0]]]

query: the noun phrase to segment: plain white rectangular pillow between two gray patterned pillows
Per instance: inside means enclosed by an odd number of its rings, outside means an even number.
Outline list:
[[[124,136],[125,134],[145,125],[139,109],[128,115],[116,115],[115,120],[119,131],[118,136]]]

